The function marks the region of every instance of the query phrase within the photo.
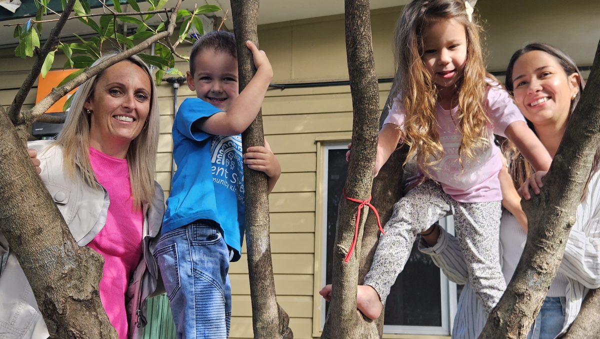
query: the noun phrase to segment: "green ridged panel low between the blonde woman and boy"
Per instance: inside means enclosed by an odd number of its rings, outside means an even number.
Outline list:
[[[167,295],[163,293],[150,298],[146,305],[148,324],[144,328],[143,339],[175,339],[175,323]]]

